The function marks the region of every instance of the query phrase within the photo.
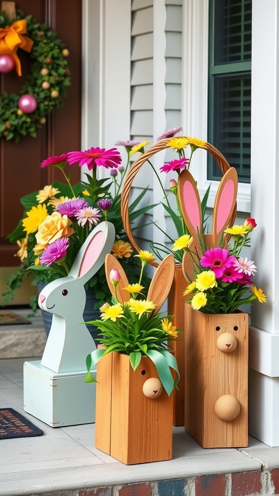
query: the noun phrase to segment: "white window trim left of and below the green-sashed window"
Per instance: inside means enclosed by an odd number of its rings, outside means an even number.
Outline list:
[[[182,47],[182,123],[186,135],[208,140],[209,0],[184,0]],[[203,198],[210,185],[212,208],[218,181],[207,178],[207,152],[197,150],[191,169]],[[250,212],[251,185],[239,183],[237,210]]]

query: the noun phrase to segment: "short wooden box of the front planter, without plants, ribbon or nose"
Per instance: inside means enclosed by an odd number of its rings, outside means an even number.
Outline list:
[[[95,446],[127,465],[172,457],[173,392],[147,398],[142,386],[150,377],[158,374],[148,357],[135,372],[121,353],[97,364]]]

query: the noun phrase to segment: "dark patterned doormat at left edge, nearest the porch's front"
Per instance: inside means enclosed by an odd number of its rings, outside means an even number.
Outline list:
[[[0,408],[0,440],[42,434],[41,429],[12,408]]]

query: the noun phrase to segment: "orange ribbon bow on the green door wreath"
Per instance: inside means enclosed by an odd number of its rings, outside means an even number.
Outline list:
[[[33,40],[27,36],[27,21],[21,19],[13,22],[6,28],[0,28],[0,55],[11,55],[15,62],[15,70],[21,76],[20,60],[17,57],[17,49],[22,48],[26,52],[31,52]]]

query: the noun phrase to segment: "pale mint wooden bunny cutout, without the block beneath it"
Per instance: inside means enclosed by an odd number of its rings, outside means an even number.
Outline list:
[[[83,323],[84,284],[103,265],[111,251],[115,229],[109,222],[96,226],[80,248],[67,277],[49,283],[39,295],[41,309],[53,313],[41,365],[51,371],[84,371],[95,343]]]

